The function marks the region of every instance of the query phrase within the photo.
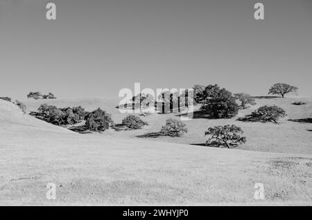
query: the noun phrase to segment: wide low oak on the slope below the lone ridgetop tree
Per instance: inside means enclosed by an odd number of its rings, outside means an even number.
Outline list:
[[[284,118],[286,116],[286,112],[284,109],[277,107],[276,105],[273,106],[263,106],[257,109],[256,111],[252,112],[250,118],[254,121],[261,121],[261,122],[275,122],[279,118]]]

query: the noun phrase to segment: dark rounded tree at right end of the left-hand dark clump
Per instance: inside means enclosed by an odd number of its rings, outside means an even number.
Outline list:
[[[114,123],[110,114],[100,108],[87,113],[85,121],[87,129],[92,131],[105,131]]]

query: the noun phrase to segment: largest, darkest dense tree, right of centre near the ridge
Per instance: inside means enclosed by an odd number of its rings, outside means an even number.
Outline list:
[[[239,112],[239,105],[232,93],[226,89],[218,89],[215,85],[213,90],[205,93],[206,99],[200,107],[202,113],[213,118],[232,118]]]

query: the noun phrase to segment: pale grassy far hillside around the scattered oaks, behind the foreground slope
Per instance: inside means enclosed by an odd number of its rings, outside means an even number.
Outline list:
[[[303,101],[305,105],[293,105],[293,102]],[[189,133],[181,138],[157,137],[146,138],[157,142],[182,143],[189,145],[202,145],[206,142],[205,131],[209,127],[216,125],[237,125],[243,129],[247,138],[247,143],[241,145],[238,149],[253,150],[259,152],[280,152],[295,154],[312,154],[312,124],[309,118],[312,118],[312,98],[263,98],[257,99],[257,104],[239,111],[239,115],[231,119],[207,119],[195,118],[185,122]],[[87,111],[92,111],[101,107],[112,114],[115,122],[121,122],[126,115],[121,114],[116,105],[119,104],[117,99],[71,99],[71,100],[28,100],[25,102],[28,111],[35,111],[40,104],[48,103],[58,107],[83,106]],[[237,118],[250,114],[252,111],[263,105],[277,104],[282,107],[288,116],[280,120],[278,125],[273,123],[261,122],[241,122]],[[138,138],[157,132],[165,124],[167,118],[177,118],[175,113],[171,114],[154,114],[144,117],[149,122],[149,126],[137,131],[114,131],[107,130],[103,136],[116,138]],[[295,122],[298,120],[300,122]],[[304,120],[306,122],[304,122]],[[93,135],[93,134],[86,134]]]

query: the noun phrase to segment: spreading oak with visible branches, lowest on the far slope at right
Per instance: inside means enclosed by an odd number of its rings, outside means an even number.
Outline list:
[[[210,136],[206,145],[227,145],[230,149],[233,146],[245,143],[246,138],[241,136],[243,130],[235,125],[225,125],[209,127],[205,132],[205,136]]]

